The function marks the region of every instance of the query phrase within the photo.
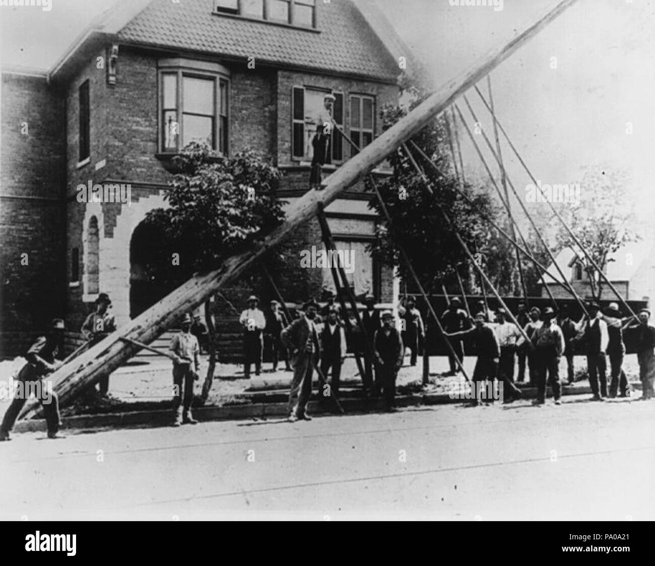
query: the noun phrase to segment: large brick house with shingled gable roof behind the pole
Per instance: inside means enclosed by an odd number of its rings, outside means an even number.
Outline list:
[[[366,145],[378,136],[379,108],[398,100],[399,43],[379,14],[367,18],[370,3],[358,4],[130,0],[49,71],[3,69],[0,355],[19,353],[52,316],[64,316],[71,347],[99,292],[113,299],[119,325],[165,294],[143,280],[149,236],[138,228],[166,206],[166,165],[188,141],[267,155],[284,173],[278,196],[293,202],[308,187],[312,115],[324,94],[335,96],[335,121],[350,138]],[[337,140],[329,155],[327,173],[354,152]],[[88,183],[129,184],[129,206],[78,202]],[[337,246],[360,258],[349,280],[356,294],[390,302],[392,269],[366,250],[376,222],[369,198],[358,183],[327,217]],[[327,270],[299,267],[300,250],[320,242],[313,220],[284,244],[276,278],[287,301],[320,299],[331,287]],[[265,284],[224,294],[242,309],[250,292],[263,305],[272,298]],[[227,303],[214,309],[219,330],[236,337]]]

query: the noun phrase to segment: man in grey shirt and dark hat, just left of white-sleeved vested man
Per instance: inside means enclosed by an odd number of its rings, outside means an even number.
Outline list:
[[[550,307],[544,309],[542,326],[534,330],[531,341],[534,345],[534,362],[536,362],[536,399],[533,405],[546,403],[546,385],[553,388],[555,405],[561,405],[562,386],[559,382],[559,360],[564,353],[564,335],[557,326],[555,311]],[[548,372],[548,379],[546,379]]]

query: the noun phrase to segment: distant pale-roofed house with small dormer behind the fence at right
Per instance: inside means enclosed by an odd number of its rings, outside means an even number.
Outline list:
[[[576,253],[571,248],[565,248],[557,254],[555,261],[562,273],[567,276],[567,281],[575,292],[584,299],[591,297],[591,284],[580,257],[584,258],[582,252]],[[650,301],[651,297],[655,297],[655,244],[651,241],[626,244],[610,259],[613,261],[608,261],[605,275],[624,300]],[[550,265],[548,271],[561,281],[561,276],[554,265]],[[546,275],[545,280],[556,299],[571,297],[570,293],[555,283],[552,277]],[[547,297],[546,288],[543,284],[541,287],[541,296]],[[607,284],[603,284],[601,299],[615,298],[616,295]]]

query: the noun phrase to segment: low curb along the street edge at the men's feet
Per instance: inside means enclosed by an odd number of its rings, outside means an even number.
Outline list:
[[[641,390],[641,383],[631,384],[635,390]],[[522,388],[523,399],[536,397],[536,387]],[[550,387],[548,393],[552,393]],[[562,395],[584,395],[591,394],[591,387],[567,387],[564,386]],[[464,398],[451,398],[448,393],[415,393],[396,396],[398,407],[411,407],[421,405],[445,405],[461,404],[466,402]],[[341,405],[346,413],[365,413],[367,411],[381,411],[384,409],[384,400],[343,398]],[[225,407],[197,407],[193,409],[193,416],[198,421],[236,421],[240,419],[264,419],[267,417],[286,417],[288,405],[286,402],[253,403],[248,405],[229,405]],[[318,401],[310,401],[308,412],[312,415],[339,414],[331,406],[324,406]],[[81,428],[104,428],[113,426],[121,428],[124,426],[167,426],[173,421],[171,409],[159,411],[129,411],[126,413],[104,413],[102,415],[78,415],[76,417],[64,417],[62,419],[64,429]],[[45,419],[30,419],[29,421],[18,421],[14,426],[14,432],[45,432],[47,430]]]

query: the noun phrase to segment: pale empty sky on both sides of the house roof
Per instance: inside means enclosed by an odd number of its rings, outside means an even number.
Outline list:
[[[111,5],[106,0],[51,1],[48,12],[0,6],[2,64],[48,69],[84,26]],[[502,10],[451,6],[455,0],[374,2],[431,69],[434,85],[440,85],[506,43],[557,0],[504,0]],[[651,219],[654,61],[655,0],[579,0],[493,71],[496,115],[537,179],[572,183],[586,169],[624,172],[626,201],[637,204],[640,219]],[[479,86],[487,92],[486,81]],[[469,98],[491,134],[488,113],[474,92]],[[632,134],[627,133],[629,124]],[[477,154],[466,132],[460,135],[467,178],[482,181]],[[529,178],[507,145],[502,153],[510,179],[519,193],[525,192]],[[485,157],[493,162],[486,150]],[[593,198],[593,187],[580,191],[582,199]]]

